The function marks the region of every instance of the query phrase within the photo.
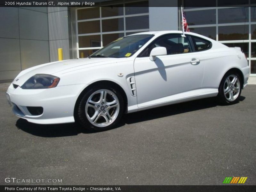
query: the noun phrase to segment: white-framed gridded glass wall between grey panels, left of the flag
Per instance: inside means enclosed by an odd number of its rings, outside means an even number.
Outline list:
[[[148,1],[115,7],[76,9],[78,58],[84,58],[112,41],[149,31]]]

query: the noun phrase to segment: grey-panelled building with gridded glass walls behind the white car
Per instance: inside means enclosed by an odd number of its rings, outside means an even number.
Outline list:
[[[241,47],[251,76],[256,76],[256,0],[102,2],[90,8],[0,7],[0,82],[12,81],[26,68],[57,61],[58,48],[64,60],[83,58],[122,36],[181,30],[180,5],[191,32]],[[166,2],[165,7],[156,6]]]

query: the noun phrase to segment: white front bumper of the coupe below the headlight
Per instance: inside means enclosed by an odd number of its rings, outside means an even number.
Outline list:
[[[59,124],[74,122],[74,108],[79,94],[88,86],[75,84],[50,89],[15,89],[11,84],[7,90],[13,113],[37,124]],[[32,115],[27,107],[42,107],[41,115]]]

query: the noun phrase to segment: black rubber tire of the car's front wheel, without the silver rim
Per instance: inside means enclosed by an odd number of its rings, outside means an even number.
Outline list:
[[[86,105],[87,100],[94,92],[96,92],[100,89],[107,89],[109,91],[114,92],[119,100],[119,113],[118,113],[115,121],[106,127],[97,127],[97,126],[91,124],[85,114],[85,105]],[[83,128],[90,130],[90,131],[99,132],[99,131],[106,131],[106,130],[115,128],[124,113],[124,99],[123,99],[122,94],[118,91],[118,89],[116,87],[111,87],[108,85],[96,85],[96,86],[91,87],[87,91],[85,91],[83,94],[84,95],[78,101],[78,107],[77,107],[77,111],[76,111],[76,117],[77,117],[76,121],[78,121],[79,124]]]

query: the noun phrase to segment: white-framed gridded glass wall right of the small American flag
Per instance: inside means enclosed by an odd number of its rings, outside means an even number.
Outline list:
[[[241,47],[251,66],[251,76],[256,76],[256,0],[209,1],[212,7],[195,7],[189,0],[183,2],[190,31],[228,47]]]

